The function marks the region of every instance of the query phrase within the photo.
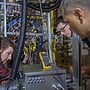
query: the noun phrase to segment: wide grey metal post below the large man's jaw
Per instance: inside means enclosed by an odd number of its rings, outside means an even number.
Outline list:
[[[75,90],[79,90],[81,77],[81,45],[79,37],[74,33],[72,37],[72,55],[73,55],[73,84]]]

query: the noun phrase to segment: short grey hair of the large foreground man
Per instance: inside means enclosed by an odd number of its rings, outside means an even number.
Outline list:
[[[90,10],[90,0],[62,0],[62,5],[66,10],[72,9],[76,6]]]

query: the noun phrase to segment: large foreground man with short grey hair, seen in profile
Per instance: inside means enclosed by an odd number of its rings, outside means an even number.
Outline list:
[[[61,8],[71,30],[90,47],[90,0],[63,0]]]

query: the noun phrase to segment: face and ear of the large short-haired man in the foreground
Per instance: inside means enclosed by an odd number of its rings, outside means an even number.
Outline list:
[[[71,30],[74,30],[81,39],[90,36],[90,14],[76,9],[71,14],[65,12],[64,19],[69,23]]]

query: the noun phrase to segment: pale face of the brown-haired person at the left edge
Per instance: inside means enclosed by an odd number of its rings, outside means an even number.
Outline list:
[[[1,53],[1,60],[2,62],[8,61],[12,59],[12,54],[14,52],[14,49],[12,47],[6,48],[2,53]]]

